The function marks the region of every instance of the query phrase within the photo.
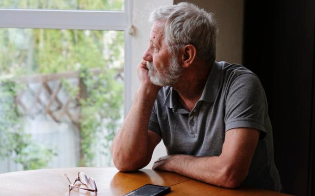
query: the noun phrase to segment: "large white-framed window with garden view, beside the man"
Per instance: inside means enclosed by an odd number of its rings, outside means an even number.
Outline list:
[[[0,7],[0,172],[110,165],[131,103],[130,1]]]

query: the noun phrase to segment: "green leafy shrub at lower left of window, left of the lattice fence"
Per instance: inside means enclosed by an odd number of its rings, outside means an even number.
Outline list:
[[[0,157],[13,156],[24,170],[44,168],[56,153],[40,146],[24,132],[14,98],[23,85],[10,80],[0,81]]]

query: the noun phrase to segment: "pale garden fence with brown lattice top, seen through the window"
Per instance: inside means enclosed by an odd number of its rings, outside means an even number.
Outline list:
[[[100,70],[94,69],[91,72],[97,75]],[[24,114],[26,133],[30,133],[37,142],[56,148],[58,153],[49,163],[50,168],[76,167],[82,156],[79,100],[87,97],[87,88],[79,74],[73,71],[16,79],[16,82],[26,87],[15,98],[15,103]],[[117,77],[122,77],[122,72]],[[69,86],[64,86],[64,81]],[[69,96],[69,87],[79,89],[75,97]],[[108,155],[97,154],[96,158],[96,166],[99,167],[108,166],[111,162]],[[0,160],[0,173],[22,169],[10,158]]]

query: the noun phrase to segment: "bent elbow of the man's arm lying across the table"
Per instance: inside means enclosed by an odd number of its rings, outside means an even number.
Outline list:
[[[248,170],[227,168],[221,175],[221,184],[219,186],[236,189],[239,187],[248,175]]]

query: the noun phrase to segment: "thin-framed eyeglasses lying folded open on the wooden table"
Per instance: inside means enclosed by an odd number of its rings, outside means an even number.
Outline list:
[[[78,173],[78,177],[74,180],[73,183],[71,183],[70,179],[68,178],[67,174],[64,173],[64,176],[68,179],[69,181],[69,191],[72,190],[73,187],[78,188],[78,189],[84,189],[87,191],[92,191],[92,192],[97,192],[97,187],[95,184],[95,181],[92,177],[90,177],[88,179],[87,175],[83,172],[79,172]],[[81,184],[85,185],[88,188],[84,188],[84,187],[79,187],[79,186],[75,186],[74,184],[79,181],[81,182]]]

